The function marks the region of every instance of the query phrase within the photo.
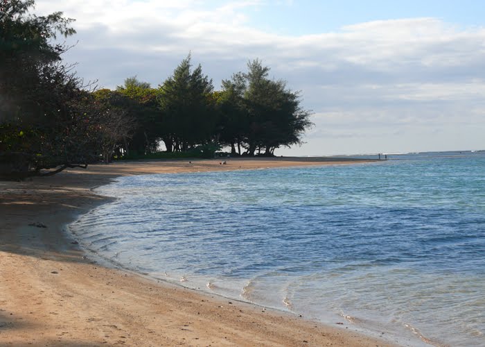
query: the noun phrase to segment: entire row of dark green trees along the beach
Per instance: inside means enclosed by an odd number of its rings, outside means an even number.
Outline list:
[[[62,12],[30,13],[34,0],[0,0],[0,176],[55,174],[116,158],[274,155],[312,124],[298,92],[252,60],[214,90],[190,54],[158,87],[126,78],[115,90],[85,83],[56,42],[76,31]],[[48,171],[46,171],[48,170]]]

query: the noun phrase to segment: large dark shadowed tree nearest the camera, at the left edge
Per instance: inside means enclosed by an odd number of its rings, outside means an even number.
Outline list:
[[[99,110],[73,66],[62,63],[68,47],[51,44],[75,33],[73,19],[37,17],[33,6],[0,2],[0,176],[11,178],[87,167],[98,157]]]

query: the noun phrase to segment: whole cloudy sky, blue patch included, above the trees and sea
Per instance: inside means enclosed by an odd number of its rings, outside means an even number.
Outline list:
[[[485,149],[482,1],[37,0],[58,10],[64,58],[102,87],[157,87],[190,51],[218,90],[260,58],[315,123],[277,155]]]

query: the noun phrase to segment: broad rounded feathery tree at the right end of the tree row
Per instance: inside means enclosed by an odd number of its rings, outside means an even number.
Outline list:
[[[269,72],[270,68],[256,59],[248,62],[245,74],[236,74],[222,84],[227,100],[232,100],[229,104],[233,108],[237,105],[230,111],[222,138],[242,141],[249,155],[256,150],[274,155],[281,146],[301,144],[304,131],[312,126],[310,112],[301,108],[299,93],[289,90],[284,81],[270,80]],[[229,126],[234,117],[240,124],[237,130]]]

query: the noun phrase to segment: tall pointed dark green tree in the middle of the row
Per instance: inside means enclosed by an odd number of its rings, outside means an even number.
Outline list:
[[[162,139],[168,152],[187,151],[211,141],[215,130],[212,80],[198,65],[191,71],[191,55],[159,86]]]

